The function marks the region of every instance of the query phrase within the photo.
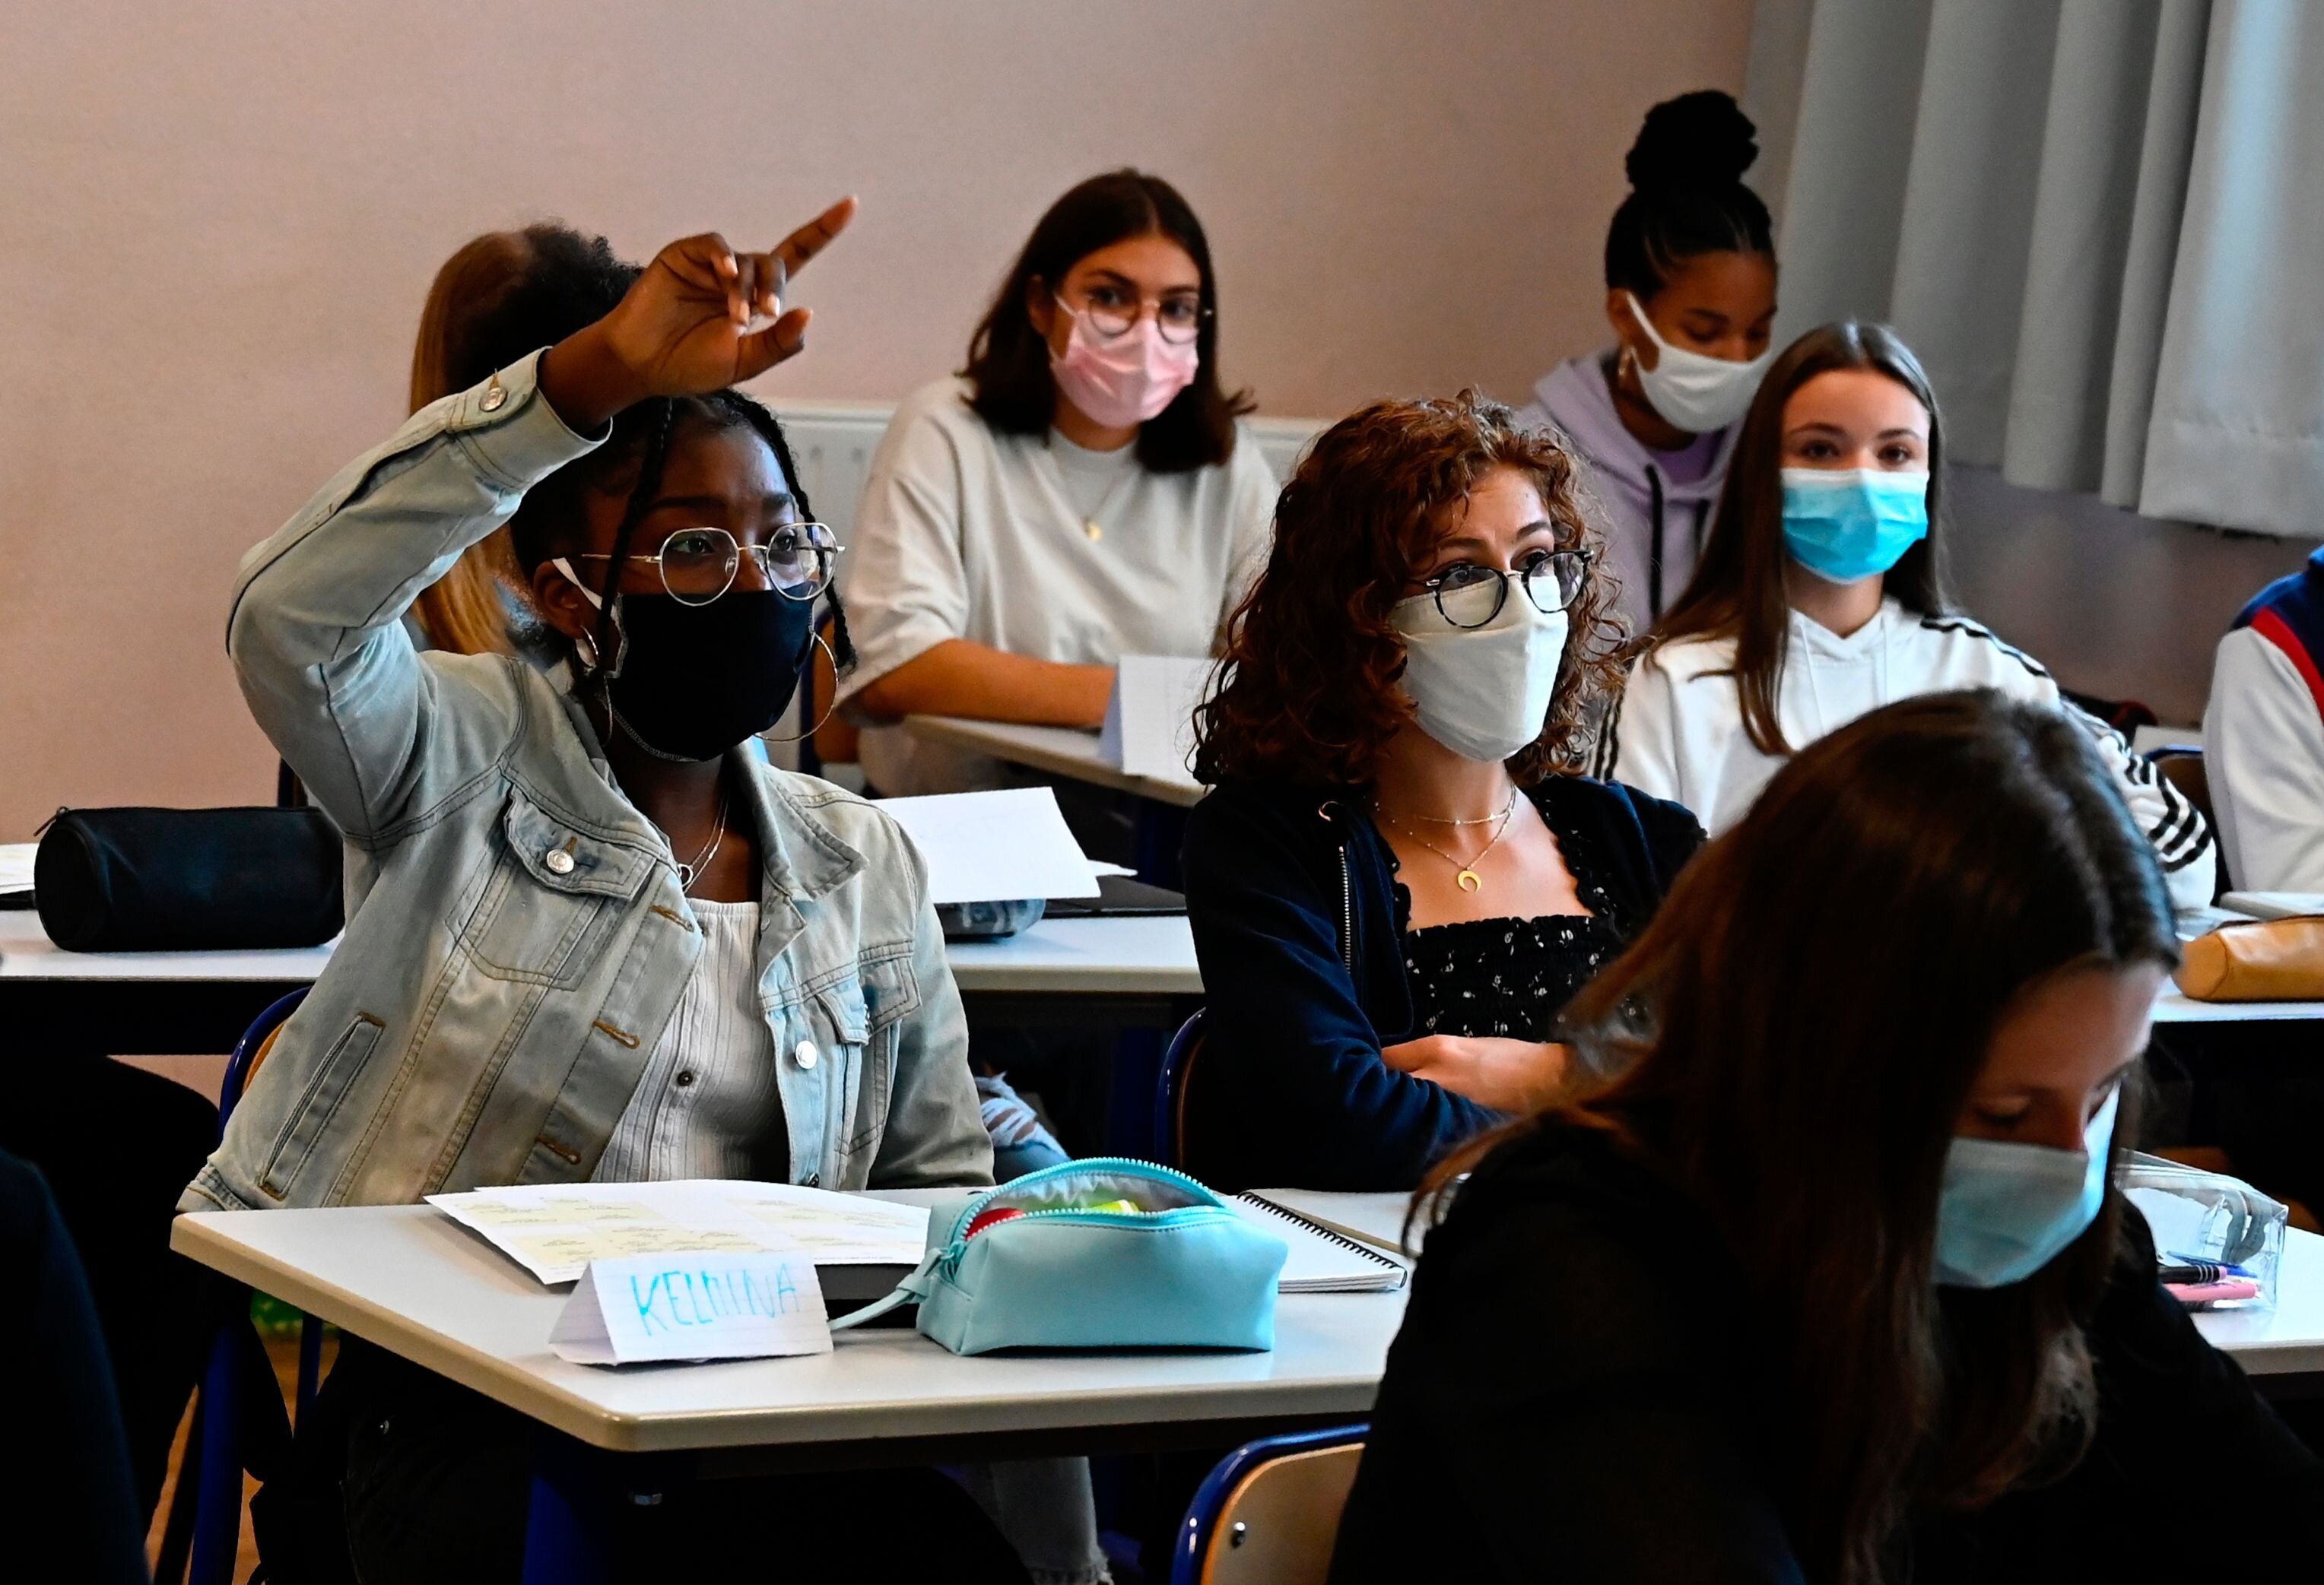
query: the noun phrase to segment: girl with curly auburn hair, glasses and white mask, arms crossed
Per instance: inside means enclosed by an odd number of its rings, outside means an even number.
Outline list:
[[[1197,718],[1197,1176],[1413,1188],[1566,1081],[1566,997],[1701,841],[1566,774],[1615,676],[1594,558],[1571,458],[1473,395],[1364,407],[1283,486]]]

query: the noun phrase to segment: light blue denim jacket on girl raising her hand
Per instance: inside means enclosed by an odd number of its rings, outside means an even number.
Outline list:
[[[516,660],[421,655],[400,621],[595,444],[535,365],[418,411],[242,565],[228,651],[346,834],[349,918],[186,1211],[586,1181],[702,951],[669,846],[579,704]],[[732,765],[792,1183],[990,1183],[920,855],[755,744]]]

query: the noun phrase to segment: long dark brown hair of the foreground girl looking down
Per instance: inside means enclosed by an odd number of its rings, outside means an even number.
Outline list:
[[[1938,1290],[1938,1185],[2006,1011],[2066,969],[2173,964],[2154,853],[2087,734],[1999,693],[1906,700],[1820,739],[1680,874],[1566,1013],[1583,1102],[1720,1229],[1796,1415],[1808,1578],[1864,1585],[1913,1513],[2054,1478],[2096,1401],[2080,1318],[2119,1195],[2064,1255]],[[2115,1150],[2136,1136],[2124,1097]]]

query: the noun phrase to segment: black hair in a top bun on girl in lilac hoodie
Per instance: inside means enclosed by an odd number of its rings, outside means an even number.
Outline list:
[[[1645,112],[1629,146],[1629,198],[1606,228],[1606,286],[1648,302],[1703,253],[1776,256],[1766,205],[1743,186],[1759,158],[1759,128],[1715,88]]]

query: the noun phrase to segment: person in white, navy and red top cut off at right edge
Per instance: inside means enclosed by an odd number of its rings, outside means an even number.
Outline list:
[[[2324,892],[2324,548],[2219,639],[2203,767],[2229,881]]]

